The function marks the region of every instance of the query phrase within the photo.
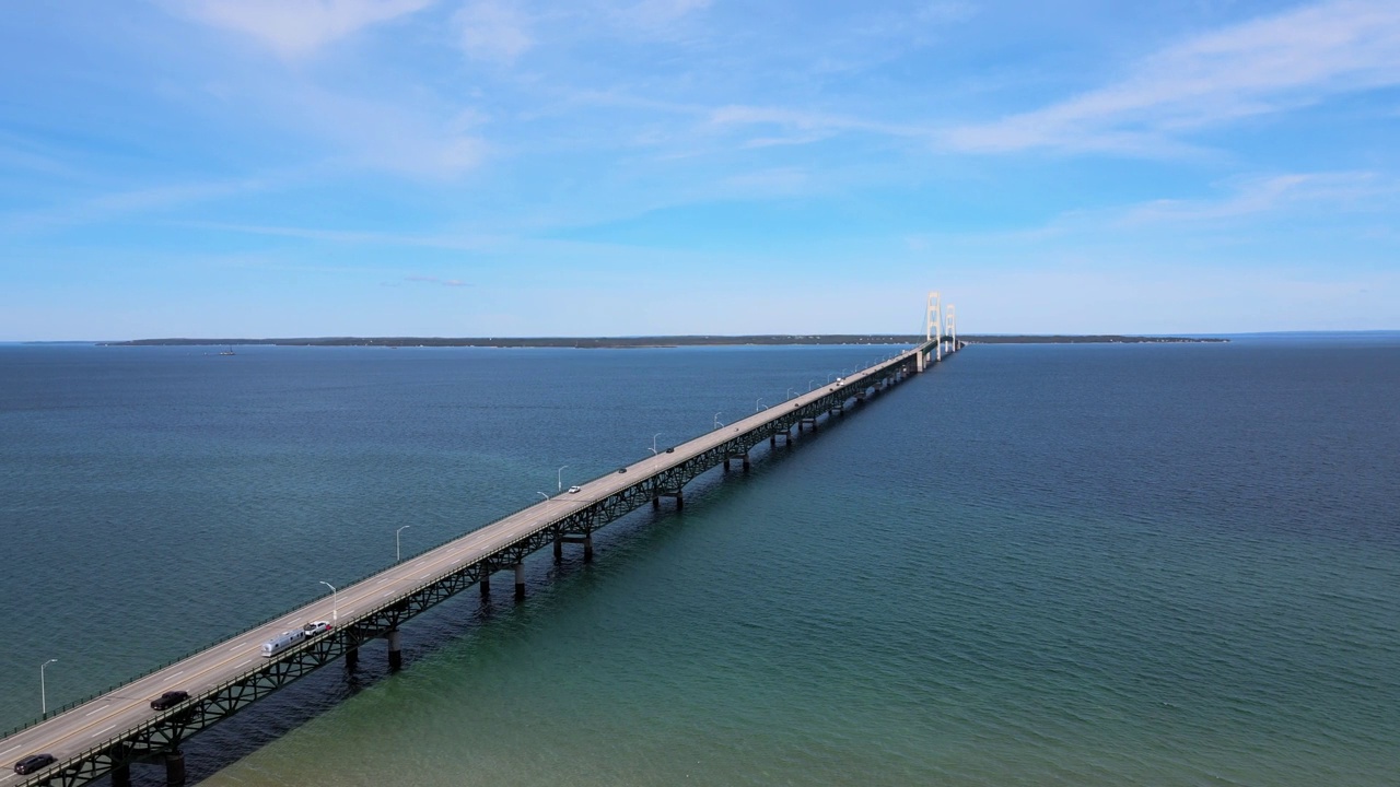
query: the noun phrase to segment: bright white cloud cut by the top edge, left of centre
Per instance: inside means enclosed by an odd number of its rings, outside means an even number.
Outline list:
[[[251,35],[283,57],[300,57],[431,3],[434,0],[188,0],[175,8],[207,25]]]

